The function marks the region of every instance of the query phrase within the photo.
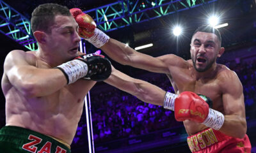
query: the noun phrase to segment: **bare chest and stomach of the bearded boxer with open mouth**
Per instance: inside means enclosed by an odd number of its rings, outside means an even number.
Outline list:
[[[179,71],[177,75],[173,73],[172,76],[168,75],[172,83],[173,89],[176,94],[184,91],[192,91],[196,94],[203,94],[212,99],[212,108],[223,112],[222,91],[220,87],[220,80],[218,73],[208,78],[196,79],[191,73],[190,69]],[[184,127],[188,135],[193,135],[202,131],[207,127],[204,124],[192,122],[190,120],[184,121]]]

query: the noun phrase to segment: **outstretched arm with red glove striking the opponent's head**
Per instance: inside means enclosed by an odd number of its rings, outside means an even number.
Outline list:
[[[70,9],[70,13],[79,25],[78,34],[97,48],[101,48],[111,59],[121,64],[135,68],[145,69],[156,73],[170,73],[168,67],[175,64],[177,56],[170,55],[172,63],[164,63],[161,58],[136,52],[120,41],[109,38],[107,34],[96,28],[96,24],[90,15],[83,13],[79,8]]]

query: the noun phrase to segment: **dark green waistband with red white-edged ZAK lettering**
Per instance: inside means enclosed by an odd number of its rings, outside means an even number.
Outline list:
[[[54,140],[50,136],[43,135],[30,129],[20,128],[17,126],[4,126],[0,129],[0,147],[4,144],[13,145],[20,152],[31,152],[30,149],[46,150],[51,153],[69,153],[70,149],[62,143]],[[1,148],[0,148],[1,149]],[[59,150],[59,151],[58,151]],[[67,150],[67,152],[65,152]],[[42,151],[43,152],[43,151]]]

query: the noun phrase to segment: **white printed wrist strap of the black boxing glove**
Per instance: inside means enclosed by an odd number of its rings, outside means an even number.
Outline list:
[[[88,72],[87,64],[79,59],[65,62],[56,68],[64,73],[67,78],[67,84],[76,82],[79,78],[86,76]]]

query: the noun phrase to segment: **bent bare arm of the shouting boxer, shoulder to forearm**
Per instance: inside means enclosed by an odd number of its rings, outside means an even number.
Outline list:
[[[220,131],[226,135],[243,138],[247,129],[243,86],[233,71],[227,71],[221,81],[225,120]]]

